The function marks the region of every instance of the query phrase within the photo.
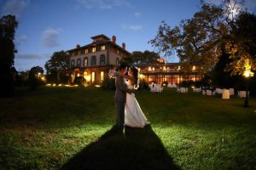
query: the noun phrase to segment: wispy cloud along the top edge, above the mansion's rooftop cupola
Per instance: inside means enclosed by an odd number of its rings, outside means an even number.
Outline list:
[[[77,5],[85,8],[111,9],[118,6],[131,6],[126,0],[77,0]]]

